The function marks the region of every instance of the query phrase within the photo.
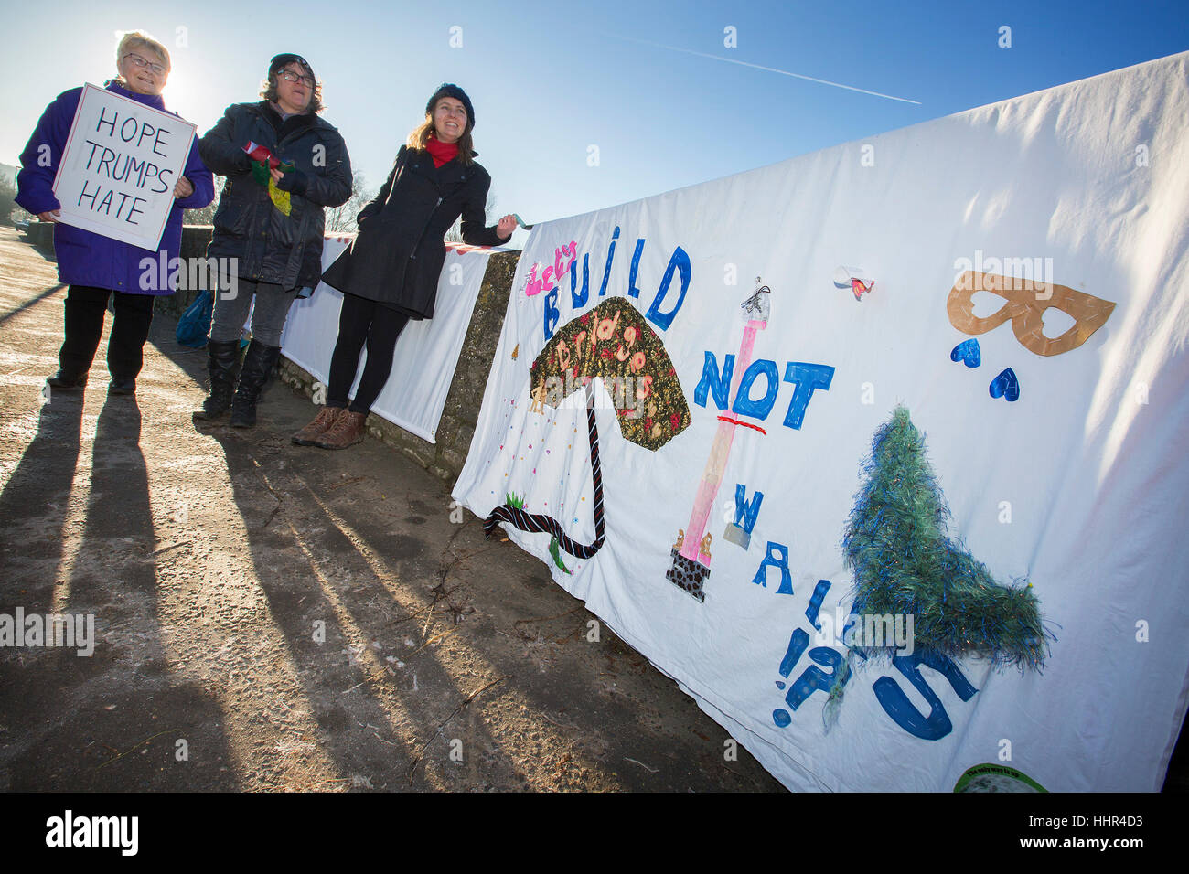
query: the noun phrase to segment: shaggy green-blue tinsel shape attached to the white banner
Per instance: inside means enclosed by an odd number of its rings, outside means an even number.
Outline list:
[[[1032,585],[1000,585],[946,537],[949,509],[904,407],[875,433],[866,474],[842,543],[853,612],[912,614],[918,650],[1040,669],[1046,635]]]

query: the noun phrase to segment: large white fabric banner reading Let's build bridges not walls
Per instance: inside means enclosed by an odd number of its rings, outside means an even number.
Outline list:
[[[1187,144],[1189,52],[537,225],[454,497],[536,518],[503,527],[789,788],[1158,790],[1189,688]],[[900,404],[954,548],[1055,640],[996,671],[897,624],[831,716],[843,532]]]

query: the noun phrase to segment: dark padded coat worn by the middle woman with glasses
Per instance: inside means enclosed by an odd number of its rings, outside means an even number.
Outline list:
[[[249,142],[294,162],[296,172],[285,174],[277,186],[290,193],[289,215],[252,178],[244,152]],[[323,208],[351,199],[351,158],[339,131],[314,114],[282,120],[268,101],[235,103],[202,137],[199,155],[227,177],[207,257],[238,258],[240,278],[252,282],[284,289],[316,285],[322,273]]]

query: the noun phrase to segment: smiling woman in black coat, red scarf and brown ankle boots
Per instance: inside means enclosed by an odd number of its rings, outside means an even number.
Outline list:
[[[339,339],[331,358],[326,407],[292,441],[344,449],[364,438],[364,421],[388,382],[396,340],[409,319],[430,319],[446,259],[442,237],[463,216],[463,240],[496,246],[511,239],[512,215],[484,227],[491,177],[474,163],[474,108],[455,84],[426,103],[426,120],[397,152],[379,194],[359,213],[359,235],[322,276],[342,291]],[[356,397],[359,353],[367,363]]]

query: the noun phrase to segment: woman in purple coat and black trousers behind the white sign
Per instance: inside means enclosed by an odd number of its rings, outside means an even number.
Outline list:
[[[169,77],[169,51],[145,33],[125,33],[115,50],[117,78],[107,89],[155,109],[165,111],[161,93]],[[17,175],[17,202],[42,221],[57,222],[61,203],[54,196],[54,176],[62,159],[82,88],[63,92],[37,122],[37,130],[20,155]],[[199,157],[197,143],[190,144],[185,169],[174,187],[174,208],[161,238],[164,263],[176,258],[182,247],[182,213],[199,209],[214,199],[210,171]],[[149,339],[152,304],[157,295],[174,293],[171,281],[151,277],[144,281],[140,262],[161,263],[161,254],[127,243],[100,237],[82,228],[57,224],[54,247],[58,258],[58,279],[69,284],[65,306],[65,340],[58,352],[57,376],[49,378],[52,389],[81,389],[87,384],[90,363],[103,333],[103,312],[115,295],[115,319],[107,344],[108,388],[113,395],[136,392]]]

